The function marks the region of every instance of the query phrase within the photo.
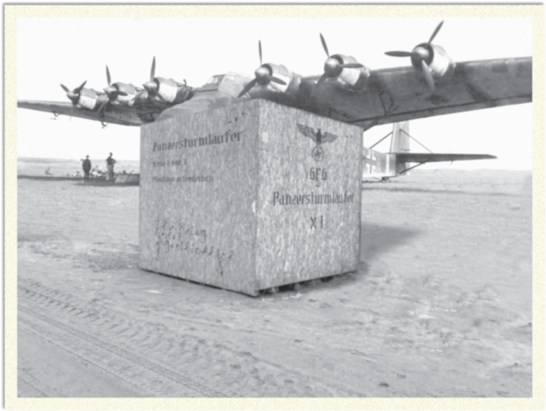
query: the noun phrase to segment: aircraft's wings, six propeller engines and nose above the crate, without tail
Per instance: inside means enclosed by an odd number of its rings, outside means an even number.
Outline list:
[[[432,43],[442,24],[413,50],[385,53],[410,58],[409,67],[370,69],[351,56],[331,55],[320,34],[327,60],[323,73],[316,76],[262,64],[259,42],[260,66],[254,79],[230,72],[192,88],[186,81],[156,77],[153,58],[150,79],[143,88],[111,84],[107,68],[104,93],[84,88],[84,82],[74,90],[62,86],[71,102],[18,100],[18,107],[103,124],[142,126],[179,113],[264,98],[367,130],[386,123],[532,101],[531,57],[454,62],[444,48]]]

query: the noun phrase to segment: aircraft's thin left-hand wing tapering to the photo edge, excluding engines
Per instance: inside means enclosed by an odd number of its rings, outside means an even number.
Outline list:
[[[55,114],[55,116],[64,114],[81,119],[121,124],[122,126],[142,126],[142,124],[149,122],[146,121],[144,114],[137,113],[136,109],[121,105],[110,105],[102,117],[99,116],[98,112],[74,107],[70,102],[18,100],[17,107],[38,110],[39,112],[49,112]]]

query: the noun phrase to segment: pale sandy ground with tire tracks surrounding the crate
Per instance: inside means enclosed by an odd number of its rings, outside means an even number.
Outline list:
[[[139,269],[138,194],[18,180],[18,396],[532,395],[531,172],[363,184],[359,270],[259,297]]]

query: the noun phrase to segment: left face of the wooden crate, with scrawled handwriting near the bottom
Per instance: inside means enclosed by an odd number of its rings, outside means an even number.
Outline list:
[[[142,127],[140,267],[255,294],[257,108]]]

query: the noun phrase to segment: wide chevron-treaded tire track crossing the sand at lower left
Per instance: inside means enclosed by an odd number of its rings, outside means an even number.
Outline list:
[[[153,363],[146,365],[160,375],[166,372],[172,377],[170,369],[184,370],[193,382],[200,381],[201,387],[214,386],[207,396],[364,396],[348,387],[233,349],[229,342],[207,341],[169,330],[162,324],[137,321],[32,280],[20,279],[19,289],[20,302],[29,300],[33,306],[55,311],[55,318],[66,318],[53,325],[66,330],[67,322],[76,324],[79,329],[71,327],[69,331],[100,344],[107,339],[109,349],[129,360],[142,358],[132,352],[150,361],[153,358]],[[56,320],[48,316],[46,321]],[[81,328],[86,330],[85,335]]]

